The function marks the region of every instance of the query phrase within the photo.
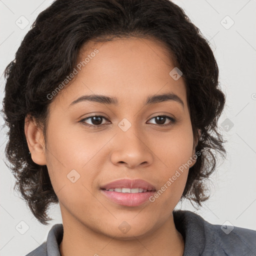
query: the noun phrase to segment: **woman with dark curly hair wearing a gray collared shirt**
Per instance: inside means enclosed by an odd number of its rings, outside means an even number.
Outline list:
[[[224,156],[207,41],[168,0],[56,0],[5,70],[6,156],[34,216],[27,255],[254,255],[255,231],[190,211]],[[253,254],[254,253],[254,254]]]

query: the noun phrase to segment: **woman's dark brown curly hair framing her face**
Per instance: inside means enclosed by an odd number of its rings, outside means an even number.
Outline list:
[[[52,219],[47,209],[58,198],[46,165],[31,159],[25,117],[34,117],[45,134],[48,105],[54,99],[47,94],[72,72],[81,46],[92,39],[134,36],[163,43],[183,73],[193,136],[199,138],[195,150],[200,154],[189,169],[181,200],[201,205],[209,197],[205,181],[216,168],[215,153],[226,153],[217,131],[225,95],[219,88],[213,52],[200,30],[169,0],[55,0],[39,13],[4,70],[2,111],[9,128],[5,153],[16,179],[14,189],[18,187],[42,224]]]

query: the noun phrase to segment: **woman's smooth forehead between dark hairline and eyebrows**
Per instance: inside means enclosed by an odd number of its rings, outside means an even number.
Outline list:
[[[101,94],[116,97],[121,106],[144,103],[148,95],[172,92],[186,106],[182,76],[174,80],[169,74],[174,67],[165,45],[156,40],[133,37],[89,41],[80,49],[77,74],[59,93],[60,99],[70,104],[83,94]]]

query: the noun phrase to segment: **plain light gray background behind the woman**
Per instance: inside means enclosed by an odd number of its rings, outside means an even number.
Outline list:
[[[14,58],[14,53],[36,16],[51,2],[52,0],[0,0],[1,102],[4,90],[3,70]],[[211,176],[211,198],[199,210],[194,210],[190,203],[179,204],[178,207],[195,211],[211,223],[222,225],[229,221],[235,226],[255,230],[256,0],[174,2],[184,8],[191,21],[210,40],[219,66],[221,87],[226,94],[226,107],[219,125],[224,138],[228,140],[225,144],[227,157],[222,164],[219,162],[217,171]],[[19,26],[25,26],[26,19],[29,24],[21,29]],[[232,20],[234,24],[229,27]],[[15,22],[19,22],[19,26]],[[233,127],[222,124],[226,118],[229,123],[233,123]],[[51,226],[62,220],[59,206],[56,205],[50,211],[54,220],[48,226],[41,225],[19,195],[13,192],[14,178],[3,161],[5,132],[6,129],[1,129],[0,255],[22,256],[41,244]],[[29,226],[24,234],[15,229],[17,224],[20,226],[20,221],[25,221]],[[21,225],[25,228],[25,224],[21,222]]]

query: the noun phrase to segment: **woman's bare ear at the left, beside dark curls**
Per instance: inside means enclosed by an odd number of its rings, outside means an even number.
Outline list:
[[[39,165],[45,165],[43,132],[30,115],[25,117],[24,131],[32,160]]]

